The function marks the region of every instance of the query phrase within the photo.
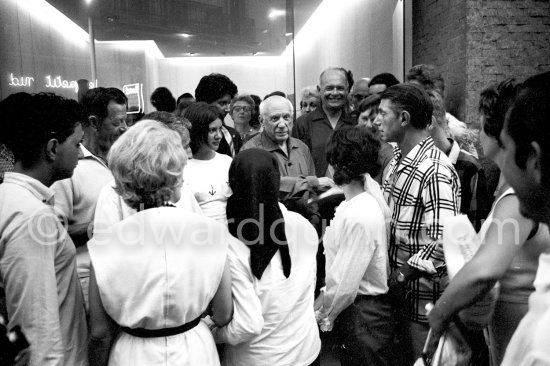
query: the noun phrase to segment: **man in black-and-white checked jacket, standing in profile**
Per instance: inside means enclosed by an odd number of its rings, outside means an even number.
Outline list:
[[[435,302],[448,283],[443,223],[460,211],[459,177],[427,129],[432,111],[424,90],[398,84],[382,93],[374,122],[382,138],[401,150],[383,185],[392,211],[389,286],[400,313],[400,365],[412,365],[421,355],[429,330],[425,305]]]

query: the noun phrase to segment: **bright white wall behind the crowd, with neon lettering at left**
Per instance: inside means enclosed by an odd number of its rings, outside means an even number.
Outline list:
[[[323,1],[296,36],[297,90],[316,84],[329,66],[351,69],[356,78],[380,72],[401,78],[401,3]],[[76,81],[91,79],[87,33],[44,0],[3,0],[0,10],[0,98],[18,91],[76,98]],[[200,78],[212,72],[229,76],[240,92],[292,94],[291,49],[274,57],[164,59],[151,41],[96,42],[97,78],[100,86],[118,88],[143,83],[146,112],[155,88],[168,87],[176,97],[194,94]]]

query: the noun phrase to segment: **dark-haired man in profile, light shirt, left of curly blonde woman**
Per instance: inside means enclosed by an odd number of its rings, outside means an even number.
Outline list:
[[[74,174],[52,185],[55,207],[68,223],[76,246],[77,272],[88,304],[90,256],[86,243],[91,239],[95,206],[101,189],[113,179],[107,154],[126,129],[128,99],[117,88],[88,90],[82,100],[84,141]]]

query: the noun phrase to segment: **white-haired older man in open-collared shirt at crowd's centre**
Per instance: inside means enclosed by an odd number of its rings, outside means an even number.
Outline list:
[[[290,137],[292,118],[292,103],[288,99],[280,96],[267,98],[260,104],[263,131],[250,139],[241,150],[258,148],[271,152],[281,173],[281,200],[289,210],[311,220],[316,213],[312,213],[307,205],[310,193],[333,187],[334,182],[327,177],[317,178],[309,148],[302,141]]]

